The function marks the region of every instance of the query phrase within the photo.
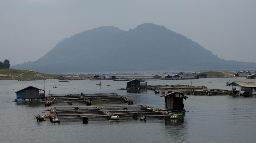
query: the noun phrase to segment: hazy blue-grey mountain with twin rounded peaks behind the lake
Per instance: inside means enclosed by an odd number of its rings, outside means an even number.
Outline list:
[[[238,70],[256,63],[226,61],[187,37],[155,24],[129,31],[102,26],[64,38],[34,62],[13,65],[44,73]]]

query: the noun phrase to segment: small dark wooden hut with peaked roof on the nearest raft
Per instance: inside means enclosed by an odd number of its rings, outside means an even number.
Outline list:
[[[188,98],[187,96],[178,92],[167,93],[161,97],[165,97],[165,109],[171,111],[184,110],[183,99]]]

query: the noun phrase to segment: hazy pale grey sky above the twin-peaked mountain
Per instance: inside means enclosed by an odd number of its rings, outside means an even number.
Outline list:
[[[0,61],[36,61],[82,31],[142,23],[163,25],[221,59],[256,62],[256,0],[0,0]]]

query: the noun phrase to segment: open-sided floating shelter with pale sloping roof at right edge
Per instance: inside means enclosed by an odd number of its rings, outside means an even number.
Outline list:
[[[232,86],[232,92],[235,95],[256,95],[255,82],[232,82],[226,86]]]

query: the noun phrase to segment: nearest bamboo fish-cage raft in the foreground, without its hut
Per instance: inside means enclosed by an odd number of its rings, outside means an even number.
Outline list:
[[[104,105],[104,106],[73,106],[54,107],[42,111],[48,112],[52,123],[82,121],[145,121],[146,118],[170,118],[178,119],[181,114],[173,114],[165,109],[153,109],[148,105]]]

